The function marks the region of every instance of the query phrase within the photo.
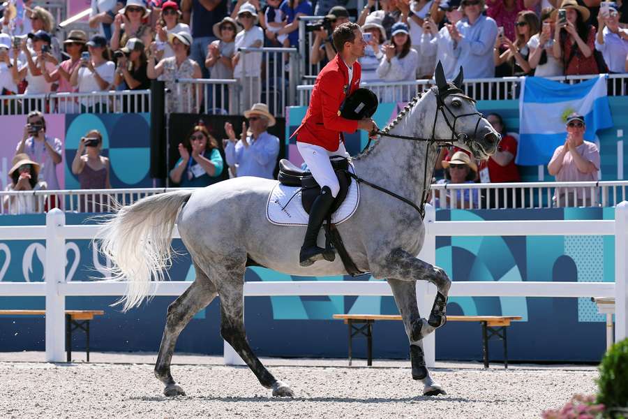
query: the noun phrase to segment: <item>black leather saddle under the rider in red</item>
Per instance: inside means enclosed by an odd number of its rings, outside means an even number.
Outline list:
[[[342,156],[331,156],[331,167],[336,172],[338,177],[338,184],[340,184],[340,191],[338,196],[334,200],[334,205],[331,205],[329,214],[334,214],[336,210],[342,205],[345,198],[347,198],[347,191],[351,185],[351,177],[347,174],[349,170],[349,161]],[[279,161],[279,175],[277,180],[285,186],[297,186],[301,188],[301,204],[304,210],[309,214],[312,209],[312,204],[317,196],[320,194],[320,185],[315,181],[312,173],[309,170],[302,170],[289,160],[281,159]]]

